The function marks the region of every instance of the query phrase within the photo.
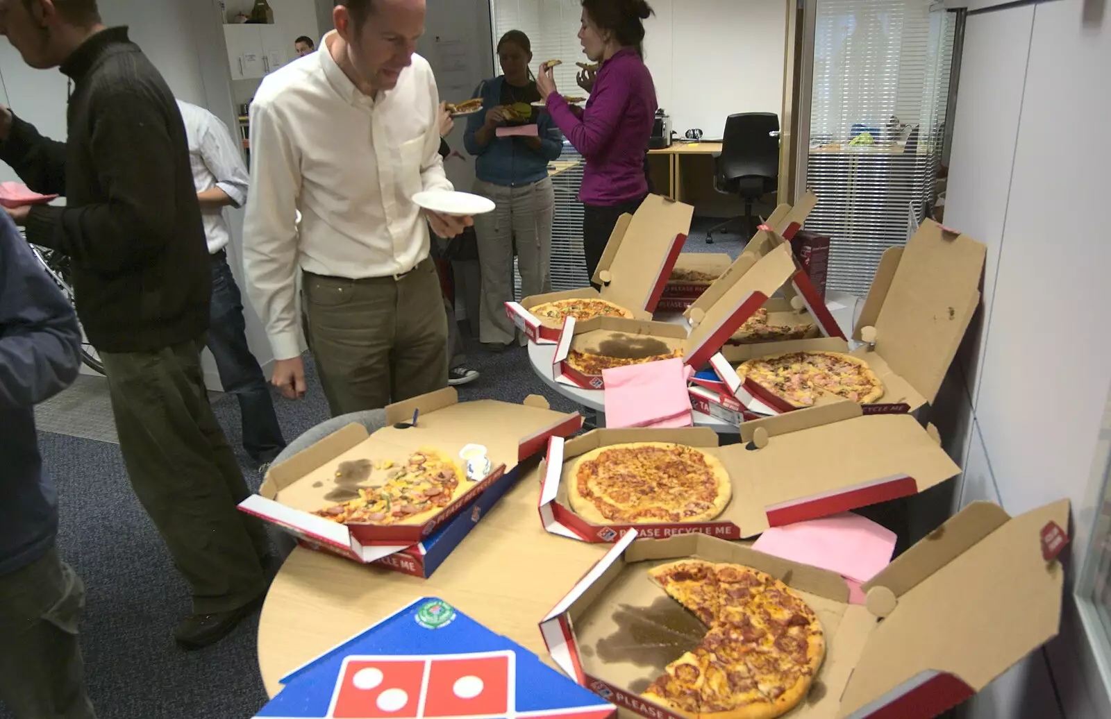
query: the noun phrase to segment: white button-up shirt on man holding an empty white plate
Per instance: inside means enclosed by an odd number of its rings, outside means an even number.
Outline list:
[[[414,54],[397,88],[370,98],[332,58],[338,39],[267,75],[251,103],[243,269],[278,360],[300,354],[298,267],[353,280],[409,272],[429,255],[412,196],[452,189],[428,61]]]

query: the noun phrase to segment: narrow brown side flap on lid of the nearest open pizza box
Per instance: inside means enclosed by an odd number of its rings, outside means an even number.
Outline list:
[[[895,558],[863,589],[887,587],[895,597],[901,597],[1010,519],[1010,515],[997,504],[973,502]]]

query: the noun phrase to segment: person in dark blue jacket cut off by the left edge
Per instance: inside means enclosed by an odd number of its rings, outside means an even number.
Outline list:
[[[96,716],[77,634],[84,586],[54,547],[33,411],[73,383],[80,352],[73,307],[0,213],[0,702],[17,719]]]

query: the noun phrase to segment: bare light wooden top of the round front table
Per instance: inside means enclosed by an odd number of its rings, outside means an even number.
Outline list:
[[[287,674],[412,600],[440,597],[548,660],[538,625],[605,554],[544,531],[534,463],[430,579],[297,548],[274,578],[259,620],[267,693]],[[549,664],[551,664],[549,661]]]

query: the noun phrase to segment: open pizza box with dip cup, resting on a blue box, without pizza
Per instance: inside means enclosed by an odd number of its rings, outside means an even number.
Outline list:
[[[580,415],[553,412],[542,397],[531,396],[519,405],[492,399],[460,403],[451,387],[390,405],[386,414],[389,425],[372,435],[364,426],[351,424],[270,467],[259,493],[241,502],[240,510],[369,564],[418,544],[502,475],[516,472],[522,459],[543,452],[549,437],[568,436],[582,426]],[[417,424],[412,426],[414,416]],[[432,448],[463,468],[459,453],[469,444],[487,448],[489,475],[473,483],[464,479],[473,484],[470,490],[423,525],[341,525],[312,514],[352,498],[353,490],[337,484],[341,463],[370,459],[402,464],[412,453]],[[360,486],[374,486],[380,478],[384,478],[384,470],[376,467]]]

